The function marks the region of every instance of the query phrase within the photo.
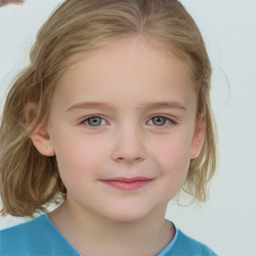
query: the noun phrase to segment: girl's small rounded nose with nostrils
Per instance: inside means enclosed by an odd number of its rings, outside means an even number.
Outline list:
[[[146,158],[145,135],[129,125],[119,128],[115,134],[111,159],[118,162],[140,162]]]

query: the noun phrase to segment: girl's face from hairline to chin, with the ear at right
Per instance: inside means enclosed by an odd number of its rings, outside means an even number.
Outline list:
[[[69,203],[132,221],[178,192],[204,125],[180,59],[136,38],[112,46],[58,82],[44,150],[54,148]]]

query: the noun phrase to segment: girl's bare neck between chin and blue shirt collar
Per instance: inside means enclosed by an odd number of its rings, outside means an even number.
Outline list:
[[[49,218],[82,255],[156,255],[175,232],[164,218],[166,206],[136,221],[123,222],[78,210],[66,200]]]

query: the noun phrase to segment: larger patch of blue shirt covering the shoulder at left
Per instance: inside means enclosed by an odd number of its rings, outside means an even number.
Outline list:
[[[80,255],[59,233],[47,214],[0,230],[0,255]]]

